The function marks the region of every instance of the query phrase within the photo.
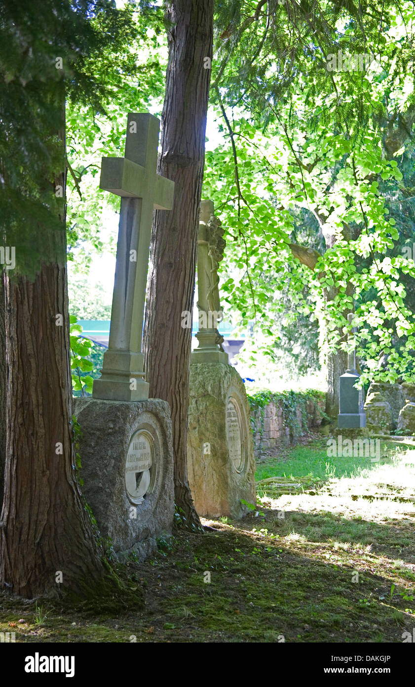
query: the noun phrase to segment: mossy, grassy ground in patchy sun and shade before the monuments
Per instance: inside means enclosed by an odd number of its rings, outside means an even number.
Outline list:
[[[415,627],[415,451],[388,444],[381,462],[354,468],[330,459],[333,473],[325,446],[259,462],[259,479],[311,475],[302,486],[277,499],[261,490],[246,519],[204,521],[215,530],[120,567],[133,602],[36,610],[2,594],[0,631],[17,642],[402,642]]]

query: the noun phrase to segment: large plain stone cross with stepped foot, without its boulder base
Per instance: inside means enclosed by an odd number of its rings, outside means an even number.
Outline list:
[[[152,217],[154,208],[171,210],[174,195],[174,181],[156,173],[159,127],[153,115],[129,113],[125,157],[102,158],[99,188],[121,196],[121,210],[110,340],[95,398],[148,398],[141,343]]]

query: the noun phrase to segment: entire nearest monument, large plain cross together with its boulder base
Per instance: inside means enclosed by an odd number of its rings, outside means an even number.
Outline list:
[[[125,157],[102,159],[100,188],[121,196],[110,340],[92,398],[74,399],[86,502],[115,552],[139,560],[174,517],[170,408],[148,398],[141,352],[153,209],[171,209],[174,193],[156,174],[158,129],[130,113]]]

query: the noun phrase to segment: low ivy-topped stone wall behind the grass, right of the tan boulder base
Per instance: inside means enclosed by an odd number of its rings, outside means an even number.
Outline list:
[[[325,394],[322,392],[254,394],[248,396],[248,401],[255,455],[277,444],[291,443],[294,438],[321,425],[324,417]]]

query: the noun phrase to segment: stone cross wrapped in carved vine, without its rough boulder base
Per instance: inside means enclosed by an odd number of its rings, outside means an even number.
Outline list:
[[[222,348],[224,340],[217,331],[223,319],[220,307],[217,268],[223,257],[225,242],[220,220],[215,217],[212,201],[200,203],[198,238],[198,311],[199,346],[191,354],[191,363],[228,363],[228,354]]]

